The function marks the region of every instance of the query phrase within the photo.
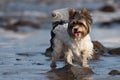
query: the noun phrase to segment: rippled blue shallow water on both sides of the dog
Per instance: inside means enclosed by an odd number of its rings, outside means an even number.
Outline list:
[[[119,25],[114,28],[93,26],[91,36],[106,47],[120,47]],[[0,29],[0,80],[49,80],[46,72],[50,70],[50,59],[43,53],[49,47],[50,29],[33,32],[14,33]],[[120,56],[102,56],[98,61],[91,61],[95,72],[90,80],[119,80],[119,76],[108,73],[120,70]],[[62,67],[63,62],[58,62]],[[114,79],[114,80],[115,80]]]

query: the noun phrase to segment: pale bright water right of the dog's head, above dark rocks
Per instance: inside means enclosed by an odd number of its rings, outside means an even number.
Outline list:
[[[120,47],[119,26],[120,25],[113,24],[111,27],[98,28],[97,25],[93,25],[91,31],[92,40],[98,40],[106,47]]]

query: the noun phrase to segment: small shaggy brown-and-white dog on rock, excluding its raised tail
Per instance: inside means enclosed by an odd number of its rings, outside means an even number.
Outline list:
[[[52,63],[51,68],[56,68],[56,61],[64,52],[67,64],[73,65],[73,60],[82,67],[89,67],[88,60],[93,55],[93,43],[90,38],[92,18],[86,8],[81,11],[69,9],[69,22],[58,25],[53,30]]]

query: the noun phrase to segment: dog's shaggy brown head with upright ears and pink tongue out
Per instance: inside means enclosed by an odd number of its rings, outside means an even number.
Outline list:
[[[83,38],[89,34],[92,25],[92,18],[86,8],[78,11],[69,9],[68,33],[72,38]]]

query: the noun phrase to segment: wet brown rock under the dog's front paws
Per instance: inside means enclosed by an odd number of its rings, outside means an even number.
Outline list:
[[[78,68],[66,65],[62,68],[51,70],[47,73],[50,80],[87,80],[94,72],[90,68]]]

